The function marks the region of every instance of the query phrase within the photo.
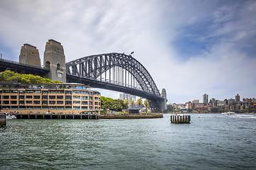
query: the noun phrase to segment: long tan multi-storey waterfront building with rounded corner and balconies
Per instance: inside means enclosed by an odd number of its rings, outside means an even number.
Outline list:
[[[100,92],[83,84],[0,84],[1,110],[54,113],[100,112]]]

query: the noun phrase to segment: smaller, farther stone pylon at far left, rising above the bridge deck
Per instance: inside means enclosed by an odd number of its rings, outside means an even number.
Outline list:
[[[19,63],[29,64],[36,67],[41,67],[41,60],[39,52],[35,46],[24,44],[21,47],[21,54],[19,55]]]

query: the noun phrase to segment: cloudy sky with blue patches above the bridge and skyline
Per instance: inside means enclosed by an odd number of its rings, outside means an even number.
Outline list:
[[[256,98],[255,16],[254,0],[0,0],[0,53],[18,62],[28,43],[42,63],[50,39],[66,62],[134,51],[168,103]]]

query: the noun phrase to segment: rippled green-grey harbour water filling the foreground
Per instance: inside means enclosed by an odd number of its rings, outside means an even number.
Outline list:
[[[255,114],[8,120],[1,169],[256,169]]]

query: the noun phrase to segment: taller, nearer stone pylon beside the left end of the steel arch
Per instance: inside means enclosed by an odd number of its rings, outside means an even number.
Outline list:
[[[55,40],[46,42],[46,50],[43,56],[43,68],[50,69],[46,75],[53,81],[66,82],[65,55],[63,46]]]

